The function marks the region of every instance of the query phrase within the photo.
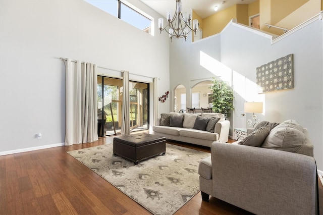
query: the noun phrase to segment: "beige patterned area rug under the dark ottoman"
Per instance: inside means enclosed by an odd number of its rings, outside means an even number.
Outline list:
[[[173,214],[199,191],[198,164],[210,153],[166,144],[166,155],[134,165],[113,144],[68,152],[153,214]]]

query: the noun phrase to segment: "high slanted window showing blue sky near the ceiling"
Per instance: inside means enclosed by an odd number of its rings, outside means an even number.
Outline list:
[[[85,2],[129,23],[142,31],[151,34],[151,20],[148,15],[143,15],[134,6],[122,0],[97,1],[84,0]],[[120,8],[120,10],[118,10]]]

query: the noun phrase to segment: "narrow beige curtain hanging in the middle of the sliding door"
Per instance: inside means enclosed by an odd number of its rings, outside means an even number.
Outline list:
[[[122,100],[122,127],[121,135],[130,134],[130,96],[129,96],[129,72],[123,72],[123,100]]]

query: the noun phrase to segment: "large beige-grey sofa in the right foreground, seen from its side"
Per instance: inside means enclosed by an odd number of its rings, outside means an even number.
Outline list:
[[[249,134],[249,145],[212,143],[211,156],[199,164],[202,199],[211,195],[255,214],[317,213],[308,131],[289,120],[266,132]]]

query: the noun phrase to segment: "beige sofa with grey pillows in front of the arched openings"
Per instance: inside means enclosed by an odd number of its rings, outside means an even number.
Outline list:
[[[153,133],[160,136],[165,136],[167,139],[177,140],[186,143],[192,143],[202,146],[210,147],[212,142],[228,142],[229,138],[229,129],[230,129],[230,122],[225,120],[223,114],[217,113],[200,113],[200,114],[178,114],[178,113],[170,113],[168,114],[170,117],[170,121],[172,121],[172,116],[176,117],[183,117],[182,126],[181,127],[174,127],[170,126],[168,123],[163,123],[167,118],[167,114],[161,114],[158,122],[159,125],[153,126],[152,130]],[[199,130],[194,129],[194,125],[196,125],[196,119],[199,117],[201,118],[220,118],[219,121],[213,127],[214,131],[210,132],[207,130]],[[168,120],[168,119],[167,119]],[[166,120],[166,121],[167,121]],[[211,122],[211,121],[209,121]],[[165,124],[167,124],[165,126]]]

